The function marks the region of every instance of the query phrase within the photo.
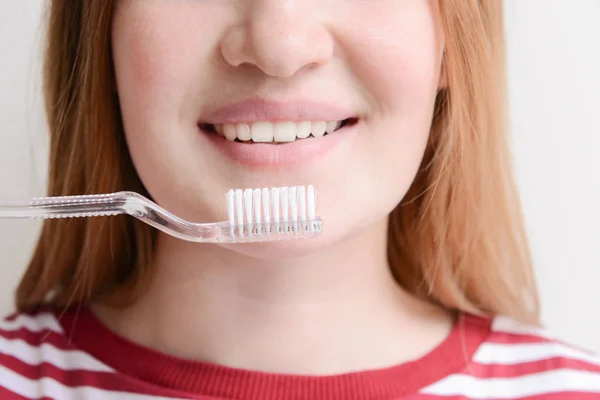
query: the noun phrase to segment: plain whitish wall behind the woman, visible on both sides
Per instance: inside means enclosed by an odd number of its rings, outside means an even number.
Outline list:
[[[44,3],[0,0],[0,200],[44,194]],[[513,151],[543,321],[600,352],[600,1],[505,5]],[[0,220],[0,314],[38,229]]]

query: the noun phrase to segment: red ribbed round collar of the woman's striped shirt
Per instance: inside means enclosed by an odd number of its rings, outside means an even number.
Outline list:
[[[332,376],[271,374],[176,358],[109,330],[87,307],[60,314],[71,342],[120,373],[192,395],[239,400],[398,399],[463,369],[490,332],[491,320],[462,314],[424,357],[389,368]]]

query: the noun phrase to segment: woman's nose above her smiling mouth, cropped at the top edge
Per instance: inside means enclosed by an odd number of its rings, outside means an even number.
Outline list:
[[[221,41],[223,58],[232,66],[252,65],[277,78],[326,64],[333,56],[333,37],[316,7],[311,7],[321,1],[245,2],[245,18]]]

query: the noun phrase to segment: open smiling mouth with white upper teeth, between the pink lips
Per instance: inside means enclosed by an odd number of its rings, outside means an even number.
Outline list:
[[[256,121],[235,124],[199,123],[209,134],[219,135],[238,143],[285,144],[300,140],[321,138],[355,125],[358,118],[341,121]]]

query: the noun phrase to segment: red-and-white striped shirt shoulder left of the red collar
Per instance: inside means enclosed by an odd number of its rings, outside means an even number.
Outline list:
[[[171,400],[169,390],[130,378],[77,347],[80,307],[40,309],[0,320],[0,399]]]

